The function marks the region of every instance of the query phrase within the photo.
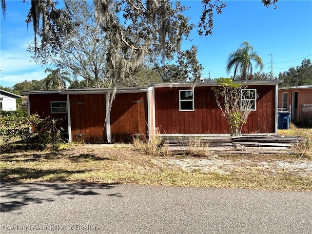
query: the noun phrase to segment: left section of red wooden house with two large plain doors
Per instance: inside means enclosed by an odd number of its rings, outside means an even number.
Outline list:
[[[151,135],[148,103],[152,87],[120,88],[106,117],[109,89],[68,89],[23,92],[28,111],[41,117],[63,118],[69,141],[86,143],[129,142]]]

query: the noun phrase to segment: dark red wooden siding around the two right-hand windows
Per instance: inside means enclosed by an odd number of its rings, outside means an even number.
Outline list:
[[[257,89],[257,110],[252,111],[243,133],[274,133],[275,85],[249,86]],[[215,102],[211,87],[195,87],[195,111],[179,111],[179,90],[155,88],[155,122],[162,134],[229,133],[227,120]],[[167,113],[170,113],[167,115]]]

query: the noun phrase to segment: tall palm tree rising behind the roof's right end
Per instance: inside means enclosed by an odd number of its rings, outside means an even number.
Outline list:
[[[260,71],[263,70],[264,64],[257,52],[254,52],[254,48],[245,41],[240,45],[240,48],[232,52],[228,58],[226,71],[229,74],[234,68],[233,80],[236,76],[237,70],[240,71],[240,76],[242,80],[246,80],[247,75],[250,77],[253,75],[253,64],[252,60],[255,62],[255,68],[259,67]]]

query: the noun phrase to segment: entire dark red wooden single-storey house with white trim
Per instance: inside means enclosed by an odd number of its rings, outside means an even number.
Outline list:
[[[241,81],[254,93],[254,105],[242,133],[277,132],[277,80]],[[150,87],[118,88],[106,117],[109,89],[24,92],[29,113],[64,118],[69,141],[129,142],[132,137],[229,134],[212,87],[216,82],[155,83]],[[253,99],[254,98],[254,99]],[[241,101],[244,101],[242,98]],[[106,124],[104,125],[106,117]]]

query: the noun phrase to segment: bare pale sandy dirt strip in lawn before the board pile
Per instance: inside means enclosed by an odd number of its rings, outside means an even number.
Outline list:
[[[210,156],[207,158],[158,158],[155,163],[168,167],[181,168],[192,172],[200,170],[206,173],[219,173],[223,175],[238,172],[242,169],[257,169],[267,173],[280,171],[296,174],[296,176],[311,176],[312,160],[304,158],[280,157],[280,156]]]

